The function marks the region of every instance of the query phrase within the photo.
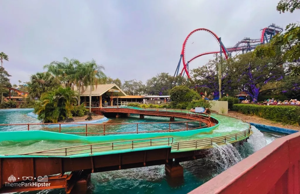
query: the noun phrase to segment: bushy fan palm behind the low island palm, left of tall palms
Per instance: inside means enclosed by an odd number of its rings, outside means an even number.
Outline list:
[[[42,93],[51,91],[59,86],[60,81],[49,72],[38,72],[30,77],[30,83],[28,84],[29,96],[40,98]]]

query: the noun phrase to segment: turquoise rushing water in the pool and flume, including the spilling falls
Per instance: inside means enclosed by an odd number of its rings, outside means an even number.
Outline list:
[[[32,110],[17,110],[17,111],[3,111],[0,110],[0,123],[33,123],[38,122],[36,119],[26,116]],[[218,129],[214,130],[210,136],[218,136],[220,134],[235,133],[247,129],[247,124],[234,118],[215,115],[220,121]],[[166,122],[167,118],[159,117],[145,117],[145,119],[138,119],[137,116],[131,116],[127,119],[112,119],[110,122]],[[177,119],[176,121],[179,121]],[[151,126],[151,125],[150,125]],[[17,126],[19,127],[19,126]],[[158,126],[152,126],[157,128]],[[166,126],[161,126],[165,128]],[[176,126],[176,127],[180,127]],[[10,131],[16,128],[0,128],[0,131]],[[20,129],[20,128],[18,128]],[[22,129],[21,129],[22,130]],[[65,129],[69,130],[69,129]],[[76,130],[80,130],[76,128]],[[95,129],[97,130],[97,129]],[[122,130],[121,128],[114,128],[112,130]],[[131,130],[131,128],[125,128]],[[152,129],[151,129],[152,130]],[[91,174],[91,184],[89,186],[89,193],[188,193],[191,190],[199,187],[214,176],[223,172],[230,166],[248,157],[263,146],[271,143],[276,138],[282,137],[282,134],[273,134],[263,132],[261,133],[252,126],[253,135],[250,136],[248,142],[243,146],[236,147],[231,144],[218,146],[214,145],[208,157],[187,161],[180,163],[184,168],[184,177],[180,179],[170,180],[165,175],[164,165],[149,166],[136,169],[125,169],[110,172],[100,172]],[[203,135],[199,135],[202,138]],[[5,152],[12,149],[20,149],[23,153],[35,150],[37,147],[51,146],[55,147],[70,146],[70,142],[51,142],[51,141],[26,141],[22,143],[1,142],[0,152]],[[73,144],[72,144],[73,145]],[[44,190],[25,192],[26,194],[58,194],[64,193],[64,190]]]

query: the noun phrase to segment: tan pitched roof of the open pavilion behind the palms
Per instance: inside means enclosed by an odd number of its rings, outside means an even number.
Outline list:
[[[120,92],[113,92],[113,96],[126,96],[125,92],[121,90],[116,84],[98,84],[94,85],[92,89],[92,96],[101,96],[102,94],[108,92],[110,89],[120,90]],[[78,91],[77,87],[74,87],[75,91]],[[90,95],[90,86],[83,87],[80,89],[80,96],[89,96]]]

